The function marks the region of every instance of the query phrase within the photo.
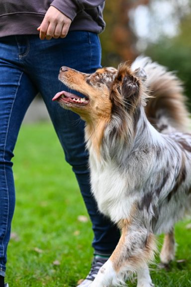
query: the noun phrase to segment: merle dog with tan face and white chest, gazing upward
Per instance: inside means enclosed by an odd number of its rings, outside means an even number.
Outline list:
[[[175,257],[174,224],[191,207],[191,134],[181,81],[148,57],[130,66],[85,74],[62,67],[59,79],[84,97],[62,91],[63,108],[86,121],[92,192],[121,237],[91,287],[153,287],[148,264],[155,234],[165,233],[161,262]]]

